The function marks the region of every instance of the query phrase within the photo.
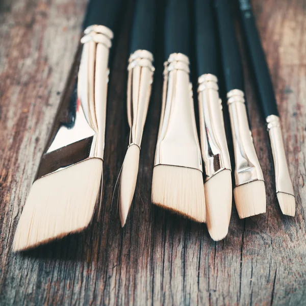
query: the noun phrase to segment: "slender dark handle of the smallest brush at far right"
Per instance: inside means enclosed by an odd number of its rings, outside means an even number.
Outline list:
[[[278,116],[275,94],[270,78],[265,53],[256,28],[256,21],[252,8],[247,0],[239,0],[242,32],[246,42],[246,49],[256,80],[262,111],[265,118],[270,115]]]

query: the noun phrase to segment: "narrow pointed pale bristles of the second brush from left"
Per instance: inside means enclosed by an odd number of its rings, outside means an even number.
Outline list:
[[[123,161],[121,179],[120,179],[120,205],[119,214],[121,226],[123,227],[129,214],[132,200],[134,197],[137,174],[139,167],[140,148],[137,145],[131,145],[127,148]]]

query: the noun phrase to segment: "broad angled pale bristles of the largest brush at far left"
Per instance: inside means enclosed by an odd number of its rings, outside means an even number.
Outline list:
[[[92,219],[103,161],[92,158],[34,182],[13,242],[20,251],[82,231]]]

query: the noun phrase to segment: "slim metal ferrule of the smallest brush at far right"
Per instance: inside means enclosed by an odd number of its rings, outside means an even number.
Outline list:
[[[279,121],[279,117],[275,115],[268,116],[266,122],[274,160],[276,192],[284,192],[294,196],[286,160],[281,122]]]

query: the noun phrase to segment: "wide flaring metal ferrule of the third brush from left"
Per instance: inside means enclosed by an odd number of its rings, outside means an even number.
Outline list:
[[[202,171],[196,131],[189,59],[171,54],[165,63],[163,103],[155,166],[172,165]]]

